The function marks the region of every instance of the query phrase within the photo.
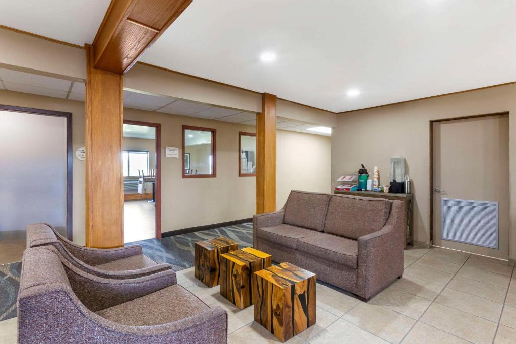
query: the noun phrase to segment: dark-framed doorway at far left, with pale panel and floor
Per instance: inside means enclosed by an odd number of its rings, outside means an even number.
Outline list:
[[[72,240],[72,114],[0,105],[0,265],[20,261],[26,226]]]

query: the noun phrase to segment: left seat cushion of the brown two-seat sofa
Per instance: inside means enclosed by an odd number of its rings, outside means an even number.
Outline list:
[[[320,234],[320,232],[282,223],[277,226],[258,228],[257,236],[260,239],[297,250],[298,239],[317,234]]]

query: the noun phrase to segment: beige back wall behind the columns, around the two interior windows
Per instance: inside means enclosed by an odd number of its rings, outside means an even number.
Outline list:
[[[0,104],[72,112],[73,151],[84,145],[84,103],[0,90]],[[238,175],[238,133],[256,127],[185,116],[124,109],[127,120],[162,124],[162,228],[173,231],[252,217],[255,177]],[[182,125],[217,130],[217,177],[182,178],[181,158],[165,158],[165,146],[182,146]],[[277,205],[291,189],[330,190],[330,139],[278,130]],[[181,152],[182,153],[182,152]],[[73,157],[73,238],[84,244],[84,161]]]

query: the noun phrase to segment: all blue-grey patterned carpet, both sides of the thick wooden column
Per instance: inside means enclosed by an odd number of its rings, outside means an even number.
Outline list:
[[[143,253],[158,263],[168,263],[175,271],[193,267],[193,243],[224,236],[239,243],[240,248],[253,244],[252,223],[242,223],[213,230],[181,234],[161,240],[148,239],[139,244]],[[16,316],[16,298],[20,287],[22,263],[0,265],[0,321]]]

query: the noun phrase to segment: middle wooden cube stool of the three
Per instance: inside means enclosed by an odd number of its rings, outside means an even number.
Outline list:
[[[252,305],[254,272],[270,267],[270,254],[246,247],[220,255],[220,294],[244,309]]]

